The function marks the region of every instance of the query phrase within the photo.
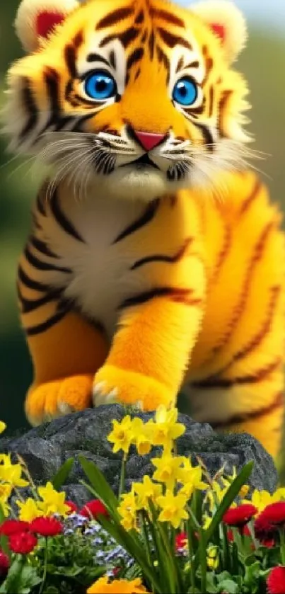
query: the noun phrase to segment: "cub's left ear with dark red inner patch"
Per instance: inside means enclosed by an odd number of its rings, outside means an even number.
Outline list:
[[[34,52],[54,27],[79,6],[77,0],[22,0],[18,8],[15,28],[23,48]]]

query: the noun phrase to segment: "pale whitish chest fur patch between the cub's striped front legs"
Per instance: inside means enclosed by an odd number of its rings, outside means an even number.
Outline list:
[[[71,209],[69,205],[69,220],[82,241],[64,236],[57,246],[62,262],[72,270],[65,296],[83,314],[100,321],[109,337],[120,304],[148,288],[143,272],[132,270],[138,254],[134,243],[139,242],[146,210],[141,202],[103,199],[74,203]],[[140,251],[143,254],[143,245]]]

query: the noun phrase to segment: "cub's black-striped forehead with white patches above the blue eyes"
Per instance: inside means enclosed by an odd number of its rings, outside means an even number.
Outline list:
[[[117,30],[118,24],[123,27],[121,31]],[[174,25],[174,32],[169,30],[171,25]],[[116,30],[112,31],[114,27]],[[204,79],[202,52],[184,21],[169,11],[153,6],[137,10],[134,5],[124,6],[107,13],[86,32],[83,51],[78,49],[79,76],[92,67],[105,66],[118,76],[119,92],[123,90],[124,81],[127,83],[129,69],[140,62],[146,52],[151,60],[156,58],[163,63],[169,81],[175,81],[180,71],[193,76],[198,84],[202,84]]]

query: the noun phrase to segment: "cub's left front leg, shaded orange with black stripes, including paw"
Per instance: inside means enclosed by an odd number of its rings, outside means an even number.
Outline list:
[[[107,357],[100,329],[66,307],[59,290],[32,280],[19,268],[21,321],[34,365],[25,400],[32,425],[91,406],[95,372]]]

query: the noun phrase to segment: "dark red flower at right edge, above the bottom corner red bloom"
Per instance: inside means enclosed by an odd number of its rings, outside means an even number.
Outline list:
[[[285,526],[285,502],[270,503],[255,520],[255,536],[268,546],[268,542],[276,539],[278,528]]]

